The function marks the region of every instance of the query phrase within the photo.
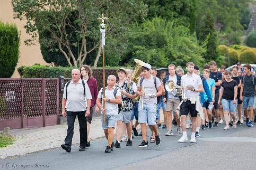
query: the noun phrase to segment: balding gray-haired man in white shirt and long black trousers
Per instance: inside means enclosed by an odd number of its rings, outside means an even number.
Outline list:
[[[80,77],[80,70],[72,70],[72,80],[69,80],[64,87],[62,99],[62,116],[67,117],[68,128],[65,144],[62,144],[61,148],[66,150],[66,152],[71,151],[76,115],[78,117],[80,127],[79,151],[84,151],[86,149],[87,128],[85,123],[86,116],[90,115],[92,96],[89,86],[84,82],[84,80],[81,80]]]

